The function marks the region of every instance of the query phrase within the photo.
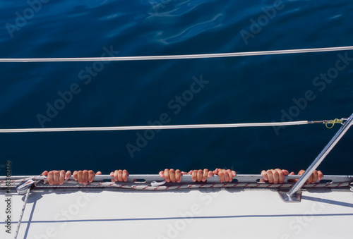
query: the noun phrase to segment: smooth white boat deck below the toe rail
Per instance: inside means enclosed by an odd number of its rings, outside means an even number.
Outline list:
[[[13,238],[24,196],[12,197]],[[353,193],[270,190],[32,192],[18,238],[353,238]]]

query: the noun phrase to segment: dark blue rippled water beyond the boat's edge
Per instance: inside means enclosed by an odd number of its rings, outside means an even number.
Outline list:
[[[1,2],[0,58],[206,54],[353,42],[352,1],[35,3]],[[173,125],[301,121],[353,112],[353,51],[0,63],[0,75],[0,128],[148,125],[161,119]],[[275,167],[299,171],[338,128],[3,133],[0,174],[6,160],[12,161],[13,175],[83,168],[103,173],[116,168],[130,173],[215,167],[238,173]],[[352,140],[353,129],[320,166],[324,173],[352,174]]]

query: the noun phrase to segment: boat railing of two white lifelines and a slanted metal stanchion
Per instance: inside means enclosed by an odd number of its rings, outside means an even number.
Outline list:
[[[313,49],[287,49],[287,50],[276,50],[276,51],[249,51],[249,52],[232,52],[232,53],[222,53],[222,54],[191,54],[191,55],[173,55],[173,56],[121,56],[121,57],[88,57],[88,58],[41,58],[41,59],[0,59],[0,62],[68,62],[68,61],[145,61],[145,60],[169,60],[169,59],[205,59],[205,58],[218,58],[218,57],[234,57],[234,56],[266,56],[273,54],[303,54],[309,52],[323,52],[323,51],[349,51],[353,50],[353,46],[348,47],[326,47],[326,48],[313,48]],[[345,121],[345,123],[343,123]],[[297,180],[295,185],[289,191],[280,192],[280,196],[285,202],[300,202],[301,191],[300,189],[304,186],[306,180],[311,176],[311,173],[318,168],[323,159],[328,155],[328,153],[335,147],[337,142],[341,139],[343,135],[347,132],[349,127],[353,123],[353,114],[349,118],[342,118],[341,120],[335,121],[294,121],[294,122],[277,122],[277,123],[232,123],[232,124],[218,124],[218,125],[161,125],[159,126],[116,126],[116,127],[91,127],[91,128],[22,128],[22,129],[0,129],[0,133],[19,133],[19,132],[63,132],[63,131],[93,131],[93,130],[142,130],[146,128],[152,129],[179,129],[179,128],[234,128],[234,127],[258,127],[258,126],[273,126],[273,125],[304,125],[309,123],[325,123],[327,126],[328,123],[332,125],[334,123],[342,123],[342,127],[332,140],[328,143],[328,145],[323,149],[323,151],[318,154],[318,157],[313,161],[313,163],[306,169],[303,176],[297,178],[298,176],[286,176],[284,183],[289,183],[293,179]],[[139,178],[141,177],[141,178]],[[328,176],[324,176],[323,179]],[[344,176],[345,177],[345,176]],[[351,176],[347,176],[349,181],[351,180]],[[14,178],[14,177],[12,177]],[[30,178],[30,177],[29,177]],[[35,177],[32,177],[35,178]],[[157,180],[161,180],[157,178],[157,176],[129,176],[128,182],[126,183],[139,183],[140,185],[143,183],[154,183],[156,187],[159,185],[163,185],[164,183],[159,183]],[[193,183],[191,182],[191,177],[183,176],[181,180],[183,183]],[[234,179],[237,180],[237,183],[256,183],[256,185],[263,185],[260,180],[261,176],[253,175],[253,176],[237,176]],[[101,176],[96,176],[95,180],[102,179]],[[152,180],[153,179],[153,180]],[[207,183],[203,183],[208,185],[211,184],[219,184],[217,183],[217,176],[213,176],[213,178],[209,178]],[[338,179],[337,176],[330,176],[330,180],[332,180],[331,184],[333,185],[337,182],[335,180]],[[341,178],[342,179],[342,178]],[[0,179],[1,180],[1,179]],[[23,179],[25,180],[25,179]],[[23,180],[20,180],[20,183],[23,183]],[[32,179],[30,179],[32,180]],[[109,178],[104,178],[104,180],[109,180]],[[134,180],[134,181],[131,181]],[[190,181],[191,180],[191,181]],[[253,180],[256,180],[254,182]],[[37,180],[37,182],[42,180]],[[68,183],[75,183],[73,180],[68,180]],[[247,182],[246,182],[247,181]],[[0,182],[1,183],[1,182]],[[15,183],[15,182],[13,182]],[[34,183],[34,181],[33,181]],[[96,183],[96,182],[93,182]],[[108,182],[104,182],[108,183]],[[104,184],[100,184],[101,186]],[[233,183],[233,182],[232,182]],[[292,182],[291,182],[292,183]],[[76,183],[77,184],[77,183]],[[109,183],[108,183],[109,184]],[[109,185],[113,185],[114,183],[110,183]],[[92,185],[92,183],[90,184]],[[280,184],[281,185],[281,184]],[[149,186],[148,186],[149,187]],[[153,187],[153,185],[152,185]],[[0,185],[1,188],[1,185]]]

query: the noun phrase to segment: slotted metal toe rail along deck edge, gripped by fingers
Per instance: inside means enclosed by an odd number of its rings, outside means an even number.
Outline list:
[[[301,176],[289,175],[285,177],[283,183],[262,183],[259,182],[262,178],[260,174],[256,175],[239,175],[233,178],[232,182],[221,183],[218,176],[208,178],[206,182],[193,182],[191,175],[181,176],[180,183],[165,183],[164,178],[158,175],[130,175],[126,182],[111,182],[112,177],[109,175],[95,176],[92,183],[88,185],[78,184],[77,181],[70,179],[66,180],[63,185],[49,185],[44,183],[44,176],[14,176],[11,177],[10,185],[6,185],[6,181],[0,181],[0,188],[16,188],[20,182],[35,178],[37,180],[36,188],[131,188],[136,190],[178,190],[190,188],[292,188],[295,184],[291,180],[299,179]],[[0,180],[4,179],[0,177]],[[340,188],[347,187],[353,181],[353,176],[323,176],[321,183],[310,183],[304,185],[304,188]],[[160,183],[154,186],[153,183]]]

